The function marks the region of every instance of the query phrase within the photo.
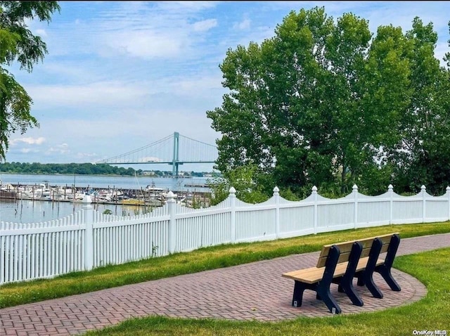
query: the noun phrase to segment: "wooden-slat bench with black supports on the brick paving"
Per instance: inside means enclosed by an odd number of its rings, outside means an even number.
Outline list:
[[[383,276],[391,290],[401,290],[391,274],[399,243],[399,233],[390,233],[324,245],[315,267],[283,274],[283,277],[295,280],[293,306],[302,306],[304,290],[314,290],[316,298],[322,299],[331,313],[340,314],[342,310],[330,293],[331,283],[337,283],[338,291],[345,292],[352,304],[362,306],[364,302],[353,286],[354,278],[358,279],[357,285],[366,285],[373,297],[383,298],[383,293],[373,282],[374,272]],[[385,259],[380,259],[380,254],[385,252]]]

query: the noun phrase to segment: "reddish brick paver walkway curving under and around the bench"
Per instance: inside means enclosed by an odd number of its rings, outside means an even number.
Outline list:
[[[450,246],[450,233],[402,239],[397,255]],[[186,318],[280,321],[297,316],[331,316],[314,292],[304,292],[303,306],[291,306],[294,282],[282,273],[314,266],[319,252],[126,285],[62,299],[0,309],[0,335],[75,335],[127,318],[160,315]],[[385,293],[371,297],[357,287],[364,306],[354,306],[332,286],[342,314],[376,311],[415,302],[426,295],[416,278],[392,270],[401,286],[393,292],[378,274],[375,283]]]

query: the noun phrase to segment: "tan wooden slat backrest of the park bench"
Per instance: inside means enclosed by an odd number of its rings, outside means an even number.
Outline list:
[[[378,235],[377,237],[349,240],[347,242],[342,242],[342,243],[323,245],[316,267],[320,268],[320,267],[325,266],[326,259],[328,257],[328,254],[330,253],[330,248],[333,245],[339,247],[340,256],[338,259],[338,263],[341,263],[341,262],[349,261],[350,251],[352,250],[353,244],[356,242],[361,243],[361,245],[363,247],[363,250],[361,252],[361,258],[368,257],[369,252],[371,252],[372,243],[375,240],[375,238],[380,238],[380,240],[383,242],[383,246],[381,247],[380,253],[387,252],[387,249],[389,248],[389,245],[390,245],[392,235],[396,235],[396,234],[398,235],[399,233],[390,233],[387,235]]]

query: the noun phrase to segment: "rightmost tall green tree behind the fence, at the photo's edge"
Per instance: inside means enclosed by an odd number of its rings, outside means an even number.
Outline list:
[[[401,141],[390,153],[394,181],[413,192],[425,185],[430,193],[445,192],[450,183],[450,76],[435,58],[437,34],[419,18],[406,33],[413,43],[409,57],[411,101],[403,110]]]

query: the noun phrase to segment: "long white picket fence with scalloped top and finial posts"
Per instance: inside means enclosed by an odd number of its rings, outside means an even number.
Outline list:
[[[75,214],[35,224],[0,222],[0,285],[51,278],[174,252],[224,243],[275,240],[349,228],[448,221],[450,188],[441,196],[425,186],[417,195],[401,196],[389,186],[386,193],[367,196],[353,192],[328,199],[312,188],[308,198],[293,202],[278,188],[256,205],[229,197],[214,207],[190,209],[167,204],[149,214],[116,217],[93,209],[89,197]]]

